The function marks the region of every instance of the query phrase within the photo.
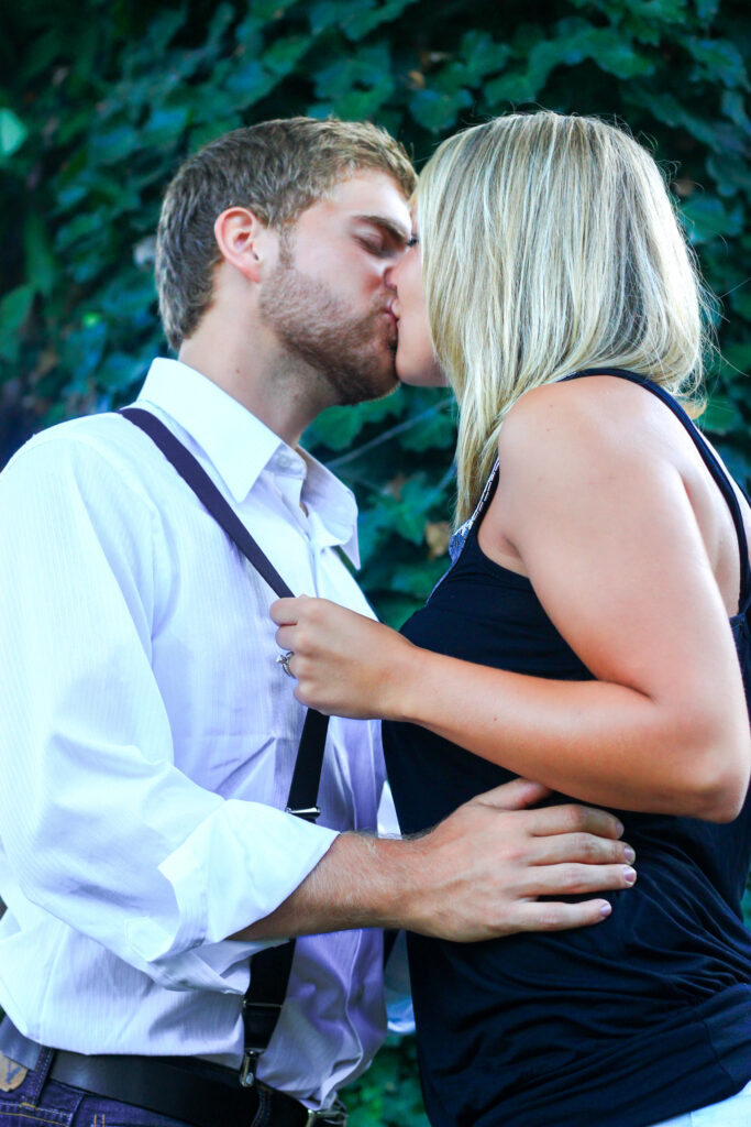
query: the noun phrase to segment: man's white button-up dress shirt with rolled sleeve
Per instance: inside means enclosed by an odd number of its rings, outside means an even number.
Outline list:
[[[296,593],[370,613],[350,491],[239,402],[155,361],[138,405],[198,458]],[[304,505],[305,512],[301,507]],[[313,826],[283,813],[304,709],[274,594],[118,415],[37,435],[0,477],[0,1004],[79,1053],[239,1066],[249,956],[341,829],[374,829],[373,725],[333,719]],[[309,1104],[384,1032],[377,931],[297,942],[260,1077]]]

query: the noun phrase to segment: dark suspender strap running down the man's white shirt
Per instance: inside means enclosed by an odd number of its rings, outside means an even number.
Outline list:
[[[189,450],[186,450],[169,427],[151,411],[140,407],[125,407],[119,414],[144,431],[159,446],[204,507],[279,598],[292,597],[293,593],[287,584],[258,547],[203,465]],[[321,813],[318,808],[318,793],[328,726],[327,716],[313,709],[307,710],[287,799],[287,813],[307,822],[315,822]],[[279,947],[260,951],[250,961],[250,986],[242,1002],[245,1039],[240,1083],[244,1088],[256,1082],[259,1057],[266,1051],[279,1020],[294,953],[293,939]]]

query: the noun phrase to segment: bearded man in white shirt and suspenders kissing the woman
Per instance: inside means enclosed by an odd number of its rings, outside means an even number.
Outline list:
[[[138,399],[294,591],[364,612],[336,550],[357,564],[354,499],[297,442],[325,407],[394,387],[384,276],[413,186],[391,137],[331,121],[239,130],[189,160],[158,239],[179,361],[155,361]],[[544,795],[524,782],[419,841],[375,840],[383,766],[366,724],[331,722],[320,824],[284,813],[303,710],[276,660],[274,595],[126,419],[37,436],[5,471],[0,511],[0,1109],[341,1122],[337,1089],[383,1036],[377,929],[583,925],[607,903],[536,897],[633,880],[615,819],[524,810]],[[249,958],[289,935],[303,938],[281,1018],[235,1112]]]

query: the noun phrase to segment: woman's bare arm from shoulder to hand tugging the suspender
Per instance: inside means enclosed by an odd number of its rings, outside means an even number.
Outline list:
[[[503,545],[597,681],[473,665],[332,604],[283,601],[274,618],[297,623],[278,637],[295,651],[298,698],[421,725],[584,801],[735,817],[751,747],[726,610],[662,420],[655,431],[644,393],[627,390],[638,398],[604,405],[601,389],[571,384],[524,397],[493,502]]]

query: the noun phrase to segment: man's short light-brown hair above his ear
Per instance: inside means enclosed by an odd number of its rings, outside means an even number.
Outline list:
[[[402,145],[366,122],[290,117],[234,130],[205,145],[167,189],[157,234],[157,289],[164,331],[177,350],[212,300],[221,252],[217,215],[249,207],[272,228],[293,224],[360,169],[391,176],[405,197],[417,183]]]

